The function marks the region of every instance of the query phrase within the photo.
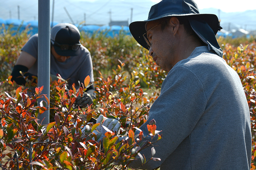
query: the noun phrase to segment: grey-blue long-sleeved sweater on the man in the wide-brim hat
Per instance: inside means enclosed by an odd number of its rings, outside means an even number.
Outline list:
[[[161,161],[150,160],[140,169],[250,169],[252,136],[243,86],[238,74],[207,46],[196,47],[168,73],[148,121],[140,127],[144,135],[152,119],[162,130],[163,138],[154,144],[154,157]],[[146,161],[151,148],[140,152]],[[129,166],[139,168],[141,160]]]

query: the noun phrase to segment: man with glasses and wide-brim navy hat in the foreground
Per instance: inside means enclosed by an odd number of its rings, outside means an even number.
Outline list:
[[[246,96],[237,73],[222,59],[214,14],[199,14],[192,0],[163,0],[148,19],[130,24],[137,42],[168,74],[150,108],[162,139],[141,167],[161,170],[250,169],[252,138]],[[139,134],[136,130],[135,135]],[[150,140],[149,136],[146,138]],[[156,140],[157,137],[153,138]],[[146,161],[151,148],[142,150]]]

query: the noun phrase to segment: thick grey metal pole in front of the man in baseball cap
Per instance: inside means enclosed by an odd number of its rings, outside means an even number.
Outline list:
[[[38,0],[38,86],[44,86],[42,94],[50,98],[50,0]],[[37,100],[38,105],[42,100]],[[49,113],[40,114],[39,123],[44,119],[42,125],[48,124]]]

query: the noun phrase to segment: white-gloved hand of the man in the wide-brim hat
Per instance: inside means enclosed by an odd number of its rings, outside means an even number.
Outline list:
[[[104,129],[102,126],[108,128],[109,130],[113,130],[116,133],[119,131],[121,127],[121,124],[117,119],[110,119],[110,118],[104,117],[103,115],[100,115],[98,117],[96,123],[100,123],[100,125],[96,129],[98,130],[98,132],[101,132],[101,134],[103,135],[107,132],[107,130]]]

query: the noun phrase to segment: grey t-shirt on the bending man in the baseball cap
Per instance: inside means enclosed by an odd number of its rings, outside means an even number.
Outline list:
[[[30,37],[28,42],[22,47],[22,51],[29,53],[36,59],[38,57],[38,34]],[[68,84],[72,87],[75,83],[79,87],[78,81],[84,82],[86,76],[90,76],[90,82],[94,82],[93,66],[91,54],[88,49],[81,45],[81,53],[76,56],[70,56],[65,62],[59,62],[52,55],[50,56],[50,73],[53,75],[60,74],[62,78],[68,79]],[[28,70],[29,73],[37,75],[37,60]]]

